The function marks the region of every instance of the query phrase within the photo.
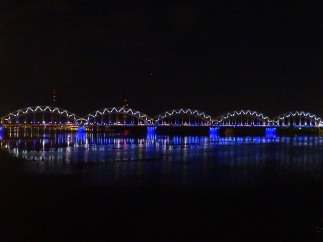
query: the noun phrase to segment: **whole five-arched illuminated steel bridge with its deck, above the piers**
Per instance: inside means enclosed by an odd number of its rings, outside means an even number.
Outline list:
[[[25,107],[1,117],[3,127],[90,128],[112,126],[206,126],[206,127],[320,127],[323,120],[304,111],[287,112],[270,118],[251,110],[228,112],[215,118],[191,108],[178,108],[150,116],[124,107],[108,107],[84,117],[51,106]]]

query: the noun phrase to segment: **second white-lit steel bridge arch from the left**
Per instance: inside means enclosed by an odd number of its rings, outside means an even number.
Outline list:
[[[153,119],[139,111],[124,107],[100,109],[83,117],[88,124],[102,125],[150,125]]]

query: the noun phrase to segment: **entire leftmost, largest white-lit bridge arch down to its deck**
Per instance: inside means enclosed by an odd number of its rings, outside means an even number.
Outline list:
[[[1,118],[2,124],[77,124],[82,119],[59,107],[33,106],[18,109]]]

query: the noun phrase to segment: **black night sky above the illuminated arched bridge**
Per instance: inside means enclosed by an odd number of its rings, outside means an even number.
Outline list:
[[[323,116],[321,5],[133,2],[1,1],[0,116],[52,105],[54,84],[57,106],[80,116],[124,99],[149,116]]]

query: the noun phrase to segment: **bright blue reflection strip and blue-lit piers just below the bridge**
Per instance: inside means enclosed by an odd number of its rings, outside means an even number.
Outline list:
[[[214,133],[213,133],[214,131]],[[210,131],[211,133],[211,131]],[[0,139],[3,134],[0,133]],[[15,135],[9,138],[10,146],[25,149],[44,149],[44,148],[66,148],[66,147],[83,147],[96,145],[201,145],[201,144],[230,144],[230,143],[277,143],[293,140],[297,143],[308,143],[319,137],[277,137],[275,129],[266,129],[265,137],[221,137],[218,136],[217,130],[212,130],[210,136],[163,136],[157,135],[155,129],[148,129],[145,138],[136,138],[128,136],[114,136],[113,134],[94,134],[86,133],[84,130],[78,130],[77,133],[68,134],[38,134],[33,136]],[[44,146],[44,147],[42,147]],[[111,147],[112,147],[111,146]],[[109,148],[107,146],[106,148]],[[193,146],[192,146],[193,147]]]

